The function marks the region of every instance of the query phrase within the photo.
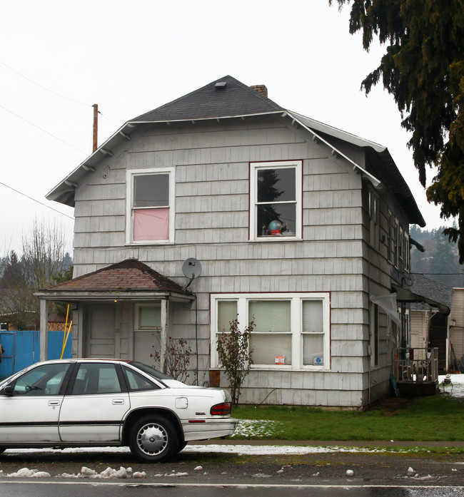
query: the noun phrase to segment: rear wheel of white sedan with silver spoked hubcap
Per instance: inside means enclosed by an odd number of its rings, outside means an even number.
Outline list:
[[[176,454],[178,448],[176,429],[162,416],[143,416],[131,429],[129,447],[139,461],[166,461]]]

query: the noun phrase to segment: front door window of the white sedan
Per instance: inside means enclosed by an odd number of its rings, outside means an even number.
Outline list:
[[[70,364],[44,364],[16,379],[14,395],[58,395]]]

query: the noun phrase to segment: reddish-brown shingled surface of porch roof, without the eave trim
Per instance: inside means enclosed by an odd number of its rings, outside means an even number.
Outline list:
[[[152,270],[143,262],[126,259],[89,272],[54,287],[50,292],[176,292],[187,294],[177,283]]]

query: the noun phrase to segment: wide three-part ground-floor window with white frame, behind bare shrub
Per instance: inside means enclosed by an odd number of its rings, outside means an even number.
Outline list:
[[[329,369],[330,296],[321,293],[212,294],[211,364],[218,364],[218,336],[233,319],[254,322],[249,346],[253,368]]]

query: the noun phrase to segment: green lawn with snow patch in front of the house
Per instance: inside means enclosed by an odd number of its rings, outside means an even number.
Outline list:
[[[262,421],[234,439],[464,441],[464,401],[435,395],[395,409],[395,399],[364,412],[303,406],[236,406],[232,416]],[[268,421],[274,421],[269,423]]]

